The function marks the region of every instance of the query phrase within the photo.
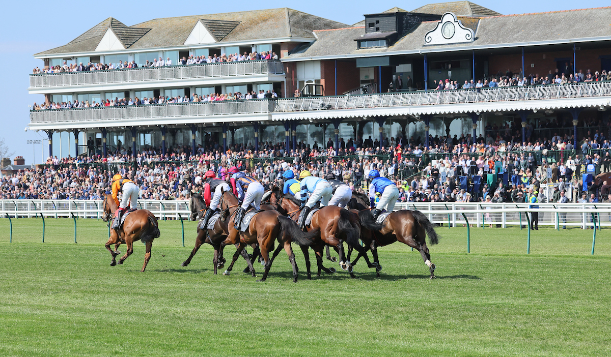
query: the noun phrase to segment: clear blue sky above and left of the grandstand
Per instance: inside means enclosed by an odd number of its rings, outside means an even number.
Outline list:
[[[10,146],[10,150],[15,151],[13,157],[21,155],[26,159],[26,164],[31,164],[32,145],[27,145],[26,140],[46,139],[46,135],[42,132],[24,132],[24,128],[29,123],[28,106],[35,101],[42,101],[42,95],[29,95],[27,93],[29,73],[32,72],[32,68],[42,67],[43,65],[42,60],[35,60],[32,54],[65,45],[109,16],[131,26],[153,18],[169,16],[290,7],[346,24],[354,24],[362,20],[362,15],[365,13],[382,12],[395,6],[405,10],[414,10],[433,2],[438,1],[136,1],[122,3],[34,0],[5,2],[2,6],[4,15],[0,22],[0,28],[2,29],[0,33],[4,34],[0,42],[0,83],[4,89],[4,95],[0,96],[0,107],[2,108],[0,112],[0,138],[4,138]],[[473,0],[472,2],[503,14],[611,5],[609,0],[587,2]],[[227,4],[231,4],[231,6],[228,7]],[[36,146],[35,152],[36,162],[40,163],[40,145]],[[46,154],[48,153],[45,149]]]

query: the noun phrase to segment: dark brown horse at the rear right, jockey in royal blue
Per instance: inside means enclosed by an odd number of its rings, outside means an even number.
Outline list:
[[[374,222],[373,215],[371,215],[368,209],[360,211],[359,218],[363,225],[371,226],[371,223]],[[384,218],[383,223],[384,228],[379,230],[372,229],[370,235],[361,236],[361,240],[365,244],[365,251],[371,250],[373,260],[378,263],[379,269],[381,270],[381,265],[379,265],[378,261],[377,247],[383,247],[384,245],[399,241],[420,251],[423,261],[428,265],[431,272],[431,279],[434,279],[435,264],[431,262],[431,254],[426,246],[425,238],[428,234],[430,245],[434,245],[439,242],[439,236],[435,232],[433,223],[426,218],[426,215],[420,211],[403,209],[390,213]],[[367,253],[359,251],[359,255],[354,259],[353,264],[356,264],[361,256],[367,259]]]

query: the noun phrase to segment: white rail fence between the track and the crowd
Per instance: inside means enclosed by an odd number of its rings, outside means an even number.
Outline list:
[[[530,209],[526,203],[397,203],[395,209],[417,209],[428,215],[433,223],[452,226],[466,223],[470,225],[500,225],[503,228],[510,225],[528,226],[527,219],[532,211],[539,213],[539,225],[593,226],[592,214],[595,215],[596,226],[611,227],[611,204],[605,203],[540,203],[540,209]],[[139,200],[139,209],[152,211],[159,219],[188,219],[191,210],[189,201],[157,201]],[[82,200],[0,200],[0,214],[7,217],[45,217],[71,218],[101,218],[102,201]],[[166,213],[167,212],[167,213]],[[464,214],[464,216],[463,216]],[[528,217],[528,218],[527,218]]]

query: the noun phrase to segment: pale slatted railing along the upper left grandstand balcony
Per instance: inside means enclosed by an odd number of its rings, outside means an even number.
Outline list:
[[[30,88],[175,81],[180,79],[249,76],[257,74],[284,74],[282,62],[277,60],[260,60],[204,63],[188,66],[143,67],[125,70],[30,74]]]

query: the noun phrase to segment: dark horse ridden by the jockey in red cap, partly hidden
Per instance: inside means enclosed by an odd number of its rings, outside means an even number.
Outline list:
[[[194,193],[191,196],[189,205],[191,206],[192,221],[201,218],[205,214],[205,211],[208,209],[208,206],[203,200],[203,197],[197,193]],[[195,254],[197,253],[197,250],[199,250],[199,247],[201,247],[203,243],[208,243],[214,248],[213,264],[214,274],[216,275],[217,269],[221,269],[225,265],[225,258],[219,256],[219,250],[221,247],[221,242],[223,242],[225,238],[227,238],[227,234],[229,232],[229,229],[227,228],[228,223],[229,222],[227,222],[226,219],[219,219],[216,221],[216,223],[214,223],[214,229],[200,229],[198,225],[195,247],[191,251],[191,255],[189,255],[189,258],[187,258],[187,260],[183,262],[182,266],[186,267],[187,265],[189,265],[189,263],[191,263],[191,259],[193,259],[193,256],[195,256]],[[244,259],[246,259],[248,264],[248,267],[244,269],[244,272],[246,273],[248,271],[251,271],[252,275],[254,276],[254,268],[252,267],[252,264],[254,263],[254,259],[256,259],[258,256],[258,247],[255,248],[255,251],[253,252],[254,257],[252,258],[252,261],[249,260],[249,256],[246,250],[243,250],[241,254]]]

